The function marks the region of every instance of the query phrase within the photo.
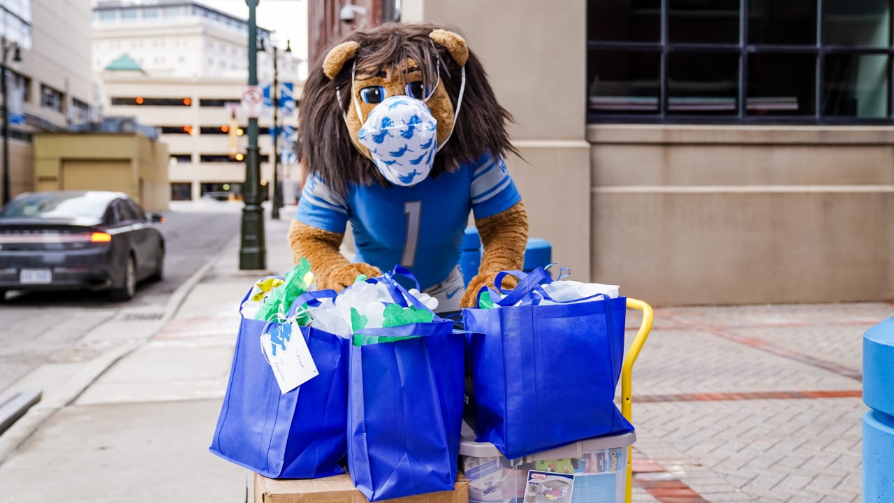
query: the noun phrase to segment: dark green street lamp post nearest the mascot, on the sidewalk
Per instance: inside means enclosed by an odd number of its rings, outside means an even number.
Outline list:
[[[249,5],[249,86],[257,86],[257,20],[258,0],[245,0]],[[245,184],[242,187],[242,229],[239,269],[266,269],[264,245],[264,209],[261,208],[260,166],[257,151],[257,117],[249,118],[249,146],[245,156]]]

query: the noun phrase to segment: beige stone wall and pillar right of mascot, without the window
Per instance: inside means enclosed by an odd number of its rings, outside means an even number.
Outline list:
[[[572,278],[655,305],[894,299],[894,128],[587,125],[585,2],[402,7],[482,59],[530,234]]]

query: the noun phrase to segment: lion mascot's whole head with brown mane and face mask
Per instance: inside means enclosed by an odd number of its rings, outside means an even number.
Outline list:
[[[299,107],[298,156],[333,191],[413,185],[485,153],[518,153],[466,41],[431,24],[355,31],[317,62]]]

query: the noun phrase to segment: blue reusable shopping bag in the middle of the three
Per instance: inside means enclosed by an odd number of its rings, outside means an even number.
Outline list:
[[[350,347],[348,472],[370,501],[453,490],[465,337],[452,327],[435,316],[432,323],[366,328],[358,334],[406,338]]]

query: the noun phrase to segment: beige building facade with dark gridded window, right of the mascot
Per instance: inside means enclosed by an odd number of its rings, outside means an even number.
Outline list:
[[[404,0],[481,57],[530,234],[659,304],[894,298],[890,2]],[[463,110],[465,112],[465,110]]]

